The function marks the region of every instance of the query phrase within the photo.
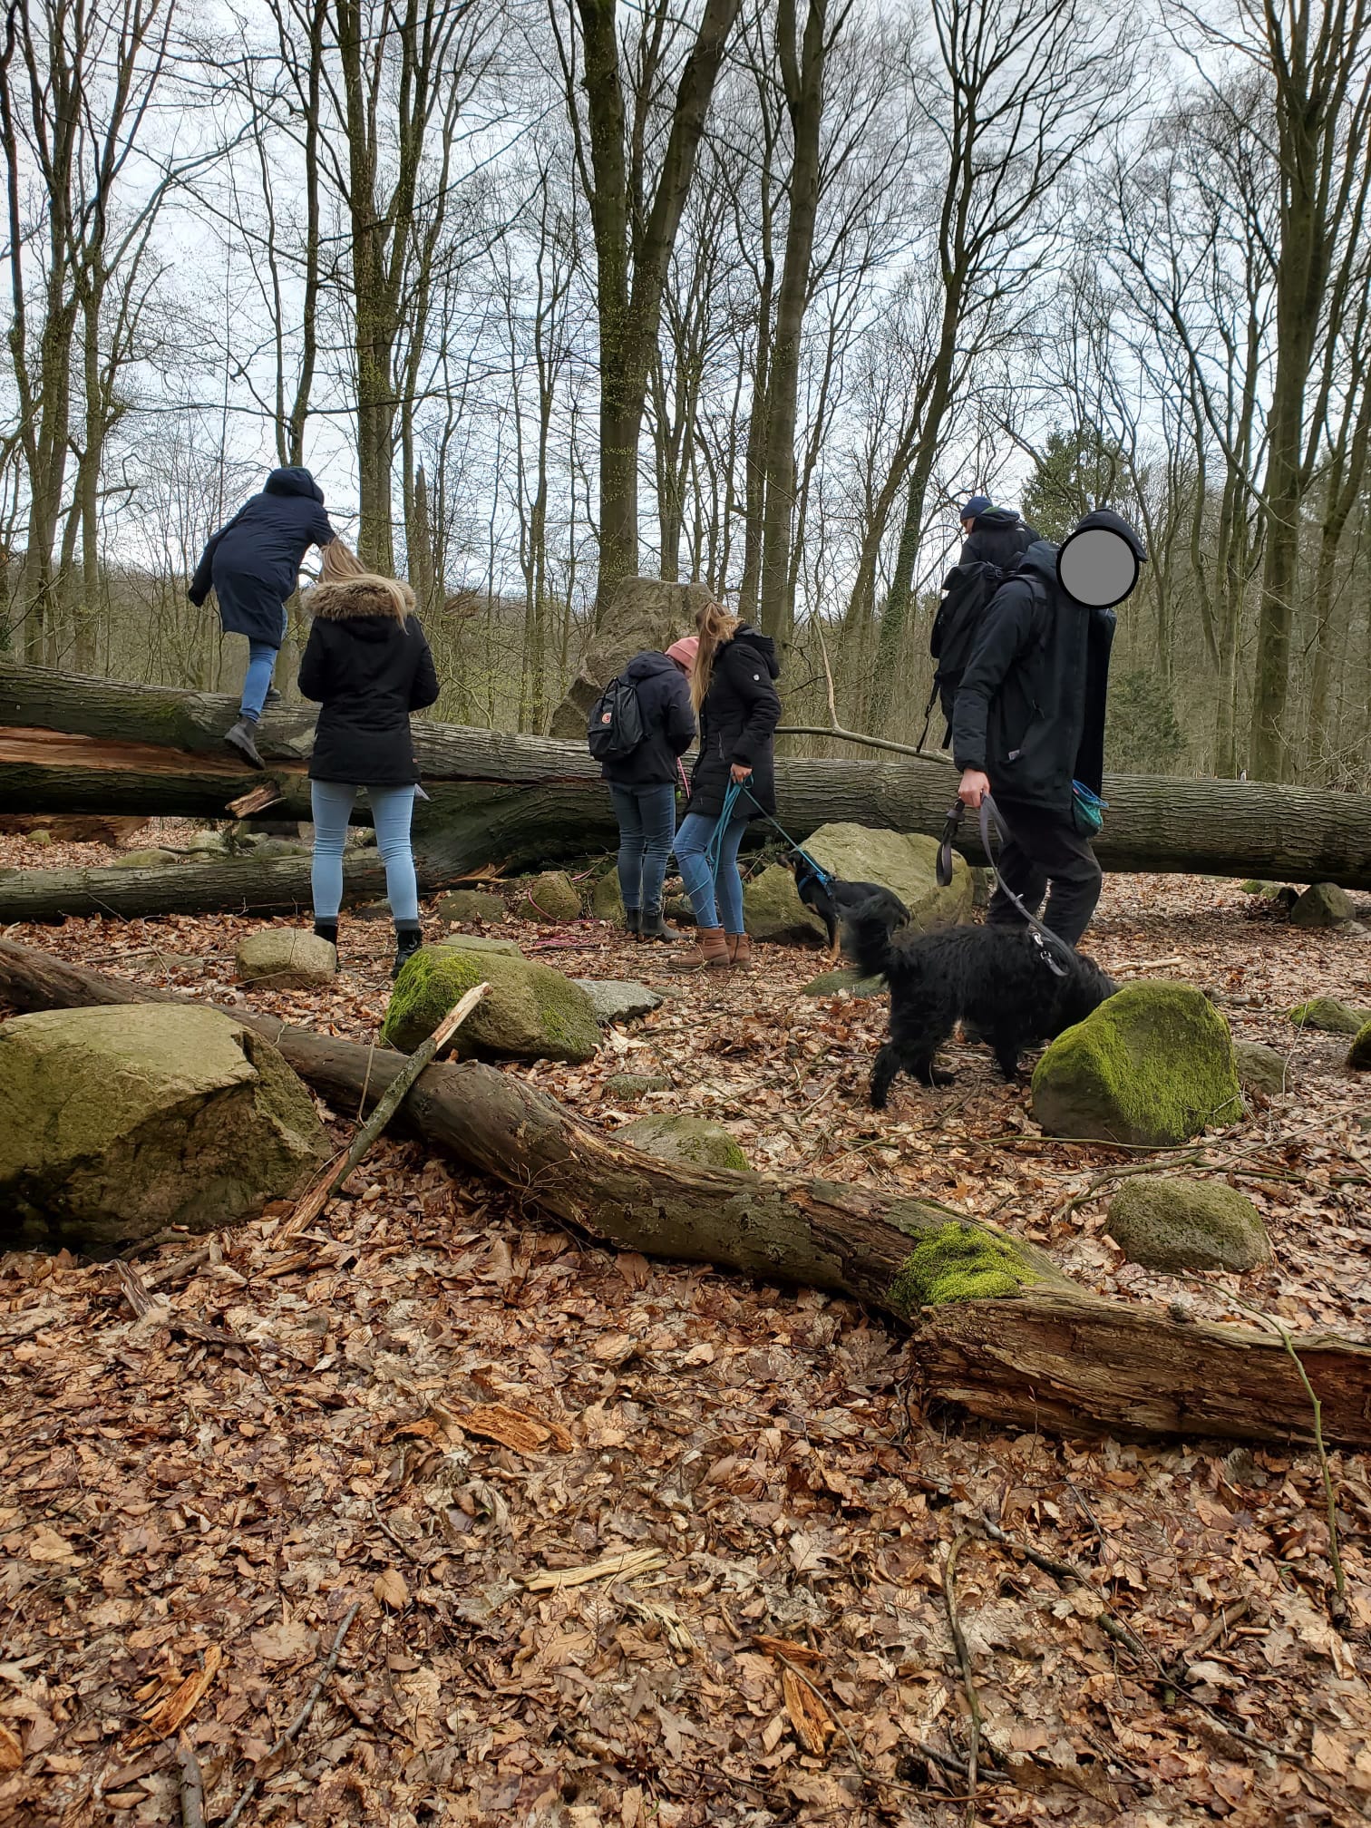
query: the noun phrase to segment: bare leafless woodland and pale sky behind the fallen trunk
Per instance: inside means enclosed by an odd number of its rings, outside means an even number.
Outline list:
[[[27,0],[0,130],[0,647],[230,686],[307,462],[441,717],[642,570],[912,740],[958,499],[1108,499],[1110,764],[1371,781],[1371,0]]]

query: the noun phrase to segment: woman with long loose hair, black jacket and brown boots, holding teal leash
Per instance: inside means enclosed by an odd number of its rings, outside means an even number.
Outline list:
[[[713,965],[751,969],[751,943],[742,930],[739,845],[748,821],[775,812],[775,728],[781,667],[766,634],[706,603],[695,627],[700,645],[691,667],[691,702],[700,718],[700,753],[691,770],[691,797],[676,832],[676,863],[695,907],[696,941],[673,958],[687,971]],[[729,784],[739,782],[733,817],[720,835],[718,861],[706,856],[724,812]]]

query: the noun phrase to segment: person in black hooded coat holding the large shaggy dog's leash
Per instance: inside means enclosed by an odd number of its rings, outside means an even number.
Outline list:
[[[1146,548],[1111,508],[1084,515],[1055,547],[1033,541],[994,594],[952,711],[958,795],[1004,813],[996,872],[1044,927],[1075,945],[1100,896],[1089,815],[1077,788],[1104,779],[1104,698],[1117,603],[1133,590]],[[1099,821],[1097,821],[1099,823]],[[993,927],[1022,921],[996,888]]]

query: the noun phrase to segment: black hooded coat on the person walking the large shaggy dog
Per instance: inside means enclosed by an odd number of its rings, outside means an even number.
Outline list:
[[[1057,581],[1057,547],[1036,539],[994,594],[952,711],[952,759],[991,792],[1071,817],[1071,782],[1104,775],[1104,696],[1115,616]]]

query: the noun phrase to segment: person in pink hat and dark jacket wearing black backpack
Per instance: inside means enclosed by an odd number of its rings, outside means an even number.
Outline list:
[[[678,940],[662,919],[662,883],[676,835],[678,757],[695,742],[695,711],[686,684],[695,636],[673,642],[664,654],[634,654],[623,669],[638,696],[643,740],[605,762],[614,817],[620,823],[620,892],[623,925],[640,940]]]

